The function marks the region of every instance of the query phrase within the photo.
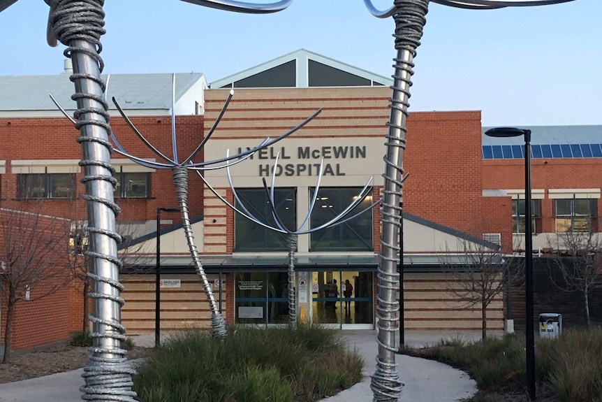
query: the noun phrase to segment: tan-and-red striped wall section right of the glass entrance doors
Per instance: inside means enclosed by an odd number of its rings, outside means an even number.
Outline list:
[[[450,294],[448,286],[458,288],[454,282],[446,273],[405,273],[405,329],[480,331],[479,306],[463,306],[456,296]],[[504,300],[499,294],[487,308],[487,330],[503,329]]]

